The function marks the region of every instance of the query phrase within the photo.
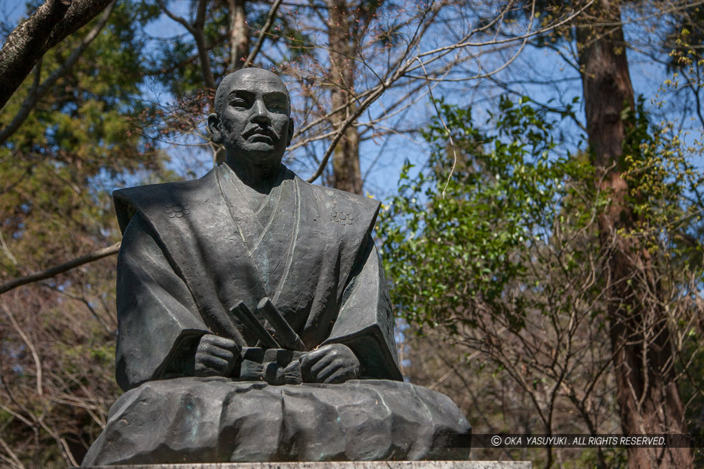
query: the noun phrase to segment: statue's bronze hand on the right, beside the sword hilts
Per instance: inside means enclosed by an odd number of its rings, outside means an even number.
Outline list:
[[[359,359],[346,345],[323,345],[301,357],[304,383],[344,383],[359,375]]]

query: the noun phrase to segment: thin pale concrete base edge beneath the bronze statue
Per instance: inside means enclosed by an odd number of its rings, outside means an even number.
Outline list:
[[[220,463],[95,465],[92,469],[532,469],[530,461],[330,461],[325,463]]]

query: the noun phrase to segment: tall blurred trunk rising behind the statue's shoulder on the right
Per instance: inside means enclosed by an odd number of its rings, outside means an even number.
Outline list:
[[[344,110],[332,117],[334,128],[353,113],[356,53],[350,15],[346,0],[328,0],[328,37],[330,44],[330,80],[332,82],[332,108]],[[359,167],[359,131],[350,126],[337,143],[332,156],[332,174],[335,188],[351,193],[362,193],[362,175]]]

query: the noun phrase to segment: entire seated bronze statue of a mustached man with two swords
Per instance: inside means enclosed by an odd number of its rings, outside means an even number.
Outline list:
[[[114,193],[126,392],[83,465],[466,458],[467,420],[398,369],[379,203],[282,165],[273,73],[228,75],[215,110],[225,164]]]

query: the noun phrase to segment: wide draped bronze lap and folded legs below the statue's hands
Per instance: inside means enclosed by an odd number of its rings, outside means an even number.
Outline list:
[[[451,399],[410,383],[175,378],[123,394],[83,465],[466,460],[469,432]]]

